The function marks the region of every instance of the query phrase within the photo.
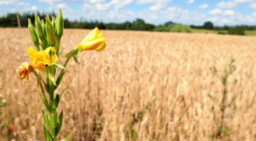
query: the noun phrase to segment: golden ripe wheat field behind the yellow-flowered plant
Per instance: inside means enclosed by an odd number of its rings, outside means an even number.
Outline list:
[[[64,30],[62,55],[89,31]],[[223,91],[209,68],[221,75],[234,58],[227,99],[236,95],[237,110],[224,121],[231,131],[223,141],[256,141],[256,37],[102,32],[106,49],[80,53],[80,65],[71,60],[57,90],[66,88],[59,104],[64,121],[58,140],[72,132],[71,141],[208,141],[216,129],[211,107],[218,106]],[[16,76],[18,66],[30,62],[29,32],[1,28],[0,43],[0,94],[7,104],[0,107],[0,140],[43,141],[36,78],[22,85]],[[8,134],[11,122],[15,130]]]

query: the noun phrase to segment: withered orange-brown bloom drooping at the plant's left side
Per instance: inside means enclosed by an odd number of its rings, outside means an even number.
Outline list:
[[[23,62],[17,69],[16,73],[23,80],[23,84],[28,80],[31,71],[33,71],[33,66],[26,61]]]

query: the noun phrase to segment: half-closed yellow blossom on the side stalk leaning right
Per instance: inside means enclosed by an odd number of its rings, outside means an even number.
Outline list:
[[[106,38],[103,38],[103,34],[95,28],[78,44],[78,47],[82,50],[101,51],[106,47]]]

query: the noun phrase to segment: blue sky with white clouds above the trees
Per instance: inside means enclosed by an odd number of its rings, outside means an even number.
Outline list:
[[[256,0],[0,0],[0,16],[15,11],[51,12],[58,8],[69,20],[83,17],[119,23],[142,18],[153,24],[256,24]]]

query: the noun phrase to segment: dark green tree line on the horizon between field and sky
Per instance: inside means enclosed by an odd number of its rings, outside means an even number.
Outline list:
[[[41,19],[43,19],[45,13],[36,13]],[[49,14],[50,16],[56,16],[54,12]],[[31,21],[34,21],[33,13],[23,13],[19,14],[21,27],[28,26],[28,18]],[[93,29],[98,27],[103,30],[145,30],[145,31],[171,31],[171,28],[177,25],[178,23],[168,21],[161,25],[154,25],[146,23],[143,19],[136,19],[132,22],[125,21],[123,23],[103,23],[99,20],[80,20],[69,21],[68,19],[64,20],[65,28],[76,28],[76,29]],[[180,24],[179,24],[180,25]],[[16,13],[8,13],[4,17],[0,17],[0,27],[18,27]],[[249,25],[240,25],[235,26],[241,30],[256,30],[256,26]],[[207,29],[207,30],[230,30],[234,28],[232,26],[214,26],[211,21],[205,22],[203,25],[190,25],[192,29]]]

